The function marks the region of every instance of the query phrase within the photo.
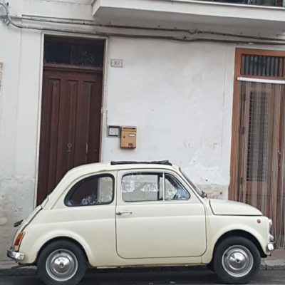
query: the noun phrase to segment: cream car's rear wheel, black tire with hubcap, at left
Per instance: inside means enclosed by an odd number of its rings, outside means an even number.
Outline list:
[[[43,248],[37,267],[46,285],[76,285],[86,273],[86,255],[77,244],[60,240]]]

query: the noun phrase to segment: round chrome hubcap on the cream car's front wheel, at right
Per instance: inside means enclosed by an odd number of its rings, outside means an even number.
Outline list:
[[[234,277],[246,276],[252,270],[252,253],[241,245],[229,247],[222,256],[222,265],[227,273]]]

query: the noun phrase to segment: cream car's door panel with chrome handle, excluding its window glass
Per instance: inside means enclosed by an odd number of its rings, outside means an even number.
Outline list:
[[[116,212],[125,212],[116,215],[124,259],[199,257],[206,250],[204,205],[193,194],[185,201],[123,202],[119,182]]]

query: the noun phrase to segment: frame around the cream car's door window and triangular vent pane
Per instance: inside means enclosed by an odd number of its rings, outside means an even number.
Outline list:
[[[125,201],[123,199],[123,187],[122,187],[122,182],[123,182],[123,177],[126,175],[135,175],[135,174],[154,174],[154,175],[162,175],[162,199],[157,199],[157,200],[142,200],[142,201]],[[165,174],[167,175],[171,175],[172,177],[175,178],[175,180],[177,180],[177,182],[180,183],[180,185],[185,189],[185,191],[187,191],[189,193],[189,198],[188,199],[165,199]],[[167,170],[130,170],[130,171],[126,171],[123,172],[118,179],[120,179],[120,200],[121,202],[123,202],[124,204],[129,204],[129,203],[139,203],[139,204],[144,204],[144,203],[157,203],[157,202],[161,202],[161,203],[167,203],[167,202],[189,202],[192,199],[192,194],[191,194],[191,189],[189,189],[189,186],[186,184],[185,185],[185,181],[181,180],[177,177],[178,175],[175,175],[172,172],[168,172]]]

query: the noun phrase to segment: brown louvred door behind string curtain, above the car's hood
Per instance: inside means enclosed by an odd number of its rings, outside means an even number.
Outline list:
[[[237,200],[274,219],[284,247],[284,85],[240,82],[239,191]]]

